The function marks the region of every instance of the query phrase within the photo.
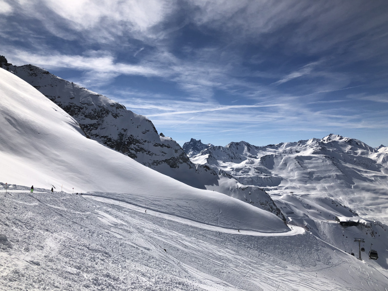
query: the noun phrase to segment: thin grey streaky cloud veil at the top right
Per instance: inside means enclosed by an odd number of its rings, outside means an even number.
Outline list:
[[[376,42],[376,35],[386,36],[387,19],[381,13],[388,8],[384,1],[198,0],[192,5],[199,8],[192,16],[195,23],[216,27],[231,41],[249,39],[264,46],[282,42],[284,49],[293,52],[311,54],[328,49],[340,52],[351,47],[362,54],[361,44],[367,45],[367,39],[371,40],[370,46]],[[376,34],[371,35],[371,31]],[[370,47],[370,56],[380,54],[381,49],[381,46]]]

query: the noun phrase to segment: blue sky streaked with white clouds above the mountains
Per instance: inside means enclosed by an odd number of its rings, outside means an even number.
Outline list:
[[[388,2],[0,0],[0,54],[179,144],[329,133],[388,146]]]

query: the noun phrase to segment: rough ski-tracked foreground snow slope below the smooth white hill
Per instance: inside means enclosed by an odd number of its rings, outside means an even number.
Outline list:
[[[0,290],[388,289],[387,270],[307,232],[238,233],[65,193],[1,193],[0,205],[12,243],[0,249]]]

